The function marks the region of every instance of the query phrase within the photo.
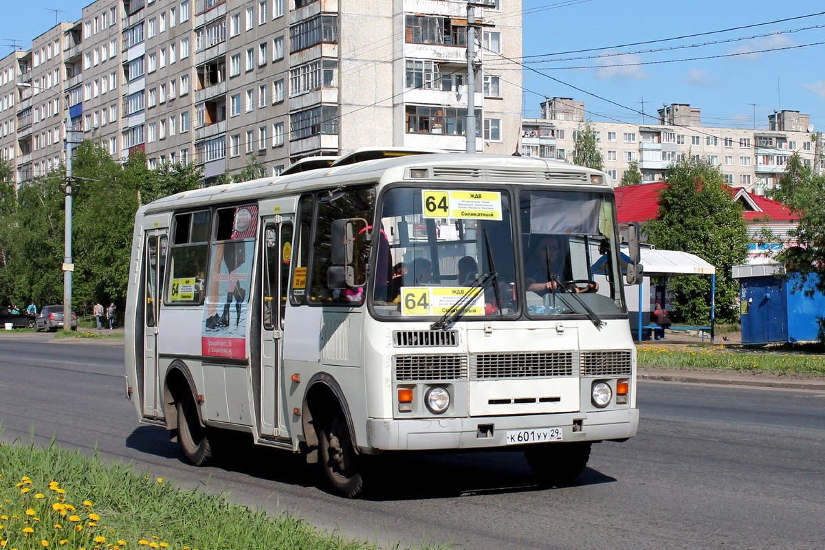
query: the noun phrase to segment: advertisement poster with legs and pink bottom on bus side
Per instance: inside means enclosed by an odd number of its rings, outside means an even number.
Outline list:
[[[234,208],[232,236],[212,242],[206,287],[201,353],[205,357],[246,356],[247,308],[255,254],[257,205]]]

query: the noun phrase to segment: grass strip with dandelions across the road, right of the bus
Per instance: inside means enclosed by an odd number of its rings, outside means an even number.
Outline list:
[[[823,355],[731,350],[724,346],[636,346],[639,364],[690,369],[766,370],[825,374]]]

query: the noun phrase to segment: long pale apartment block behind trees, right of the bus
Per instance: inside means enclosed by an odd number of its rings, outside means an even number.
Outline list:
[[[522,120],[521,153],[567,160],[585,121],[584,103],[554,97],[541,104],[540,119]],[[717,128],[701,124],[698,107],[671,104],[658,110],[658,124],[592,122],[606,172],[619,181],[630,162],[638,162],[643,181],[662,181],[667,167],[691,155],[718,166],[730,186],[761,194],[773,189],[793,153],[818,170],[823,139],[813,133],[808,115],[775,111],[768,129]]]

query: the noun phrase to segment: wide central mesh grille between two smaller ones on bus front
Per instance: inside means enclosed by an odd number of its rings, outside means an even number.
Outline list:
[[[471,378],[548,378],[573,376],[573,353],[479,354],[470,358]]]

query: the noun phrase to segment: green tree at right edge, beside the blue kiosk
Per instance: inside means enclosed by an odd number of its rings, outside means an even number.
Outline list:
[[[804,288],[807,294],[817,290],[825,293],[825,176],[813,174],[794,153],[785,165],[774,198],[800,216],[799,225],[788,232],[796,246],[785,248],[777,260],[799,272],[798,289]]]

